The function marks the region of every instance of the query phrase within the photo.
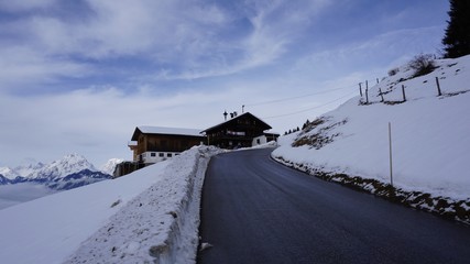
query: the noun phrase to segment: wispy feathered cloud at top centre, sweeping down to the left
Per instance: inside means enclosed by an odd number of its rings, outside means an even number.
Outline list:
[[[232,23],[248,22],[242,33],[232,32],[237,37],[218,37],[201,50],[204,55],[198,56],[197,62],[185,61],[188,67],[176,70],[160,68],[146,78],[188,80],[219,77],[275,64],[288,51],[288,45],[304,34],[309,23],[329,4],[325,0],[295,3],[282,0],[244,1],[239,8],[243,12],[229,15]],[[216,32],[214,36],[219,35],[221,32]]]

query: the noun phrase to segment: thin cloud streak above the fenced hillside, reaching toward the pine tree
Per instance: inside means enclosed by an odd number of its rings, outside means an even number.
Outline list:
[[[368,78],[380,78],[386,75],[390,67],[400,66],[419,53],[436,53],[440,32],[441,26],[429,26],[373,34],[336,47],[314,51],[300,57],[292,72],[310,73],[317,80],[339,78],[354,72],[369,73]]]

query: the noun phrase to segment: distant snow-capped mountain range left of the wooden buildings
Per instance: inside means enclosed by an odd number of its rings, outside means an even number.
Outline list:
[[[116,164],[122,160],[111,158],[102,169],[97,169],[84,156],[68,154],[50,164],[30,164],[14,168],[0,168],[0,185],[35,183],[52,189],[72,189],[102,179],[108,179]]]

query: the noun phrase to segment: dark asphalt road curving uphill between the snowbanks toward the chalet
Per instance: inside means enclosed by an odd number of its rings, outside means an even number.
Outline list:
[[[212,158],[200,264],[470,263],[470,228],[284,167],[272,150]]]

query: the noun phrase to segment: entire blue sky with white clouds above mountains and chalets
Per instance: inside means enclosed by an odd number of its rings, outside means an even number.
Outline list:
[[[0,0],[0,166],[132,158],[138,125],[283,134],[418,54],[446,0]],[[244,106],[244,107],[242,107]]]

